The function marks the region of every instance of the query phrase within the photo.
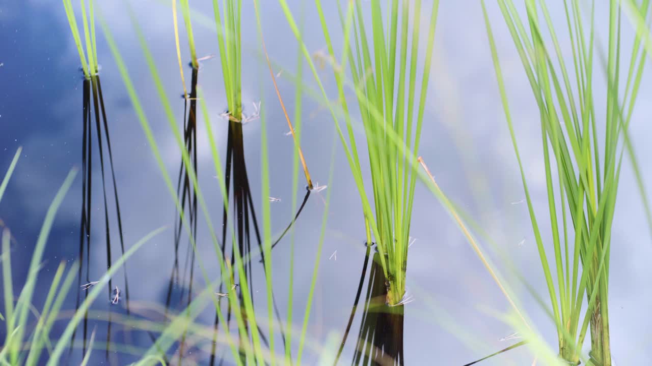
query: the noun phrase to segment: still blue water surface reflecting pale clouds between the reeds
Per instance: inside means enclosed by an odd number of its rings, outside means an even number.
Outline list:
[[[147,0],[132,3],[134,14],[138,17],[155,57],[158,71],[163,76],[162,82],[168,98],[171,99],[171,107],[178,122],[177,128],[183,130],[185,104],[180,98],[183,88],[176,61],[171,8],[165,1]],[[119,4],[121,3],[100,2],[99,8],[125,58],[136,91],[143,102],[145,115],[153,127],[153,134],[168,174],[173,178],[173,184],[176,184],[181,162],[179,150],[130,20],[125,15],[125,9]],[[303,12],[305,16],[303,37],[308,49],[313,53],[325,50],[326,44],[312,3],[293,1],[290,5],[295,14]],[[563,15],[561,5],[550,6],[553,16]],[[197,2],[193,3],[192,7],[198,10],[198,14],[193,15],[198,56],[215,55],[218,49],[211,21],[211,4]],[[426,4],[426,7],[430,7],[430,4]],[[270,146],[267,159],[271,173],[269,190],[275,199],[271,203],[271,226],[273,236],[276,237],[295,215],[292,210],[293,198],[301,203],[305,191],[302,188],[301,175],[299,191],[292,190],[293,141],[286,134],[288,126],[266,66],[258,53],[253,7],[246,5],[244,8],[243,102],[245,112],[251,114],[254,113],[252,104],[261,101],[263,117],[267,121]],[[336,29],[339,24],[336,8],[330,10],[326,15]],[[78,8],[76,11],[80,14]],[[537,213],[546,218],[538,111],[501,14],[494,5],[490,5],[489,12],[501,62],[506,72],[512,113],[530,189]],[[293,74],[297,70],[297,44],[281,8],[274,1],[264,1],[262,14],[267,49],[274,63],[278,65],[276,71],[287,70],[286,74]],[[597,16],[604,16],[604,9],[599,8]],[[111,158],[120,199],[125,246],[131,246],[158,227],[168,227],[163,234],[145,244],[126,264],[130,311],[149,320],[163,320],[162,312],[158,309],[166,303],[171,303],[172,309],[181,309],[189,285],[188,277],[181,275],[173,281],[174,285],[170,289],[170,278],[175,268],[175,206],[138,123],[110,50],[99,29],[98,32],[97,53],[102,65],[101,86],[111,135]],[[606,30],[604,32],[606,33]],[[630,42],[632,34],[629,24],[624,26],[623,32],[625,40]],[[336,40],[341,38],[334,36]],[[603,38],[600,39],[604,40]],[[187,47],[183,44],[184,39],[182,31],[181,48],[186,62],[189,55]],[[507,257],[526,281],[541,296],[546,296],[539,257],[527,217],[527,206],[523,201],[524,193],[518,166],[499,103],[486,39],[481,8],[476,1],[442,2],[419,154],[426,160],[445,193],[471,218],[477,220],[488,236],[496,242],[497,251],[492,251],[494,260],[499,268],[505,269],[505,277],[522,299],[524,309],[554,347],[556,339],[551,320],[524,286],[509,274],[507,267],[501,267],[501,261]],[[336,46],[336,49],[339,48]],[[72,167],[83,166],[84,88],[79,66],[78,54],[60,2],[34,0],[0,4],[0,171],[6,171],[16,149],[23,147],[16,172],[0,204],[1,223],[10,228],[14,236],[14,289],[20,289],[24,282],[38,230],[55,192]],[[186,68],[185,75],[188,83],[190,68]],[[321,77],[331,98],[336,98],[331,72],[327,69],[321,70]],[[307,72],[304,72],[304,82],[310,87],[316,87],[314,79]],[[286,104],[292,110],[295,84],[284,78],[283,73],[278,77],[278,83]],[[602,84],[604,83],[597,86],[600,91],[604,91]],[[207,102],[211,117],[210,128],[216,136],[216,144],[222,154],[220,160],[223,162],[228,148],[229,122],[219,117],[226,109],[226,96],[217,57],[202,63],[198,72],[198,85],[201,86]],[[647,167],[647,160],[652,153],[647,137],[652,134],[652,125],[646,119],[652,112],[652,104],[649,104],[652,100],[650,85],[652,83],[649,83],[648,74],[644,76],[640,102],[630,127],[630,135],[642,164],[647,191],[652,191],[652,176]],[[186,87],[190,88],[190,85]],[[353,95],[349,97],[353,98]],[[211,223],[220,229],[223,206],[218,190],[218,178],[206,138],[203,115],[198,117],[197,139],[193,142],[196,144],[194,148],[198,176],[213,219]],[[360,199],[342,148],[335,140],[333,120],[327,109],[320,107],[319,103],[307,94],[303,96],[302,117],[302,145],[306,162],[313,180],[322,186],[327,185],[327,188],[310,195],[293,226],[293,328],[299,329],[303,322],[318,251],[325,199],[327,193],[331,195],[318,281],[307,328],[306,338],[311,346],[306,348],[304,354],[304,363],[314,365],[325,354],[323,348],[333,352],[340,345],[359,289],[359,279],[366,261],[366,248]],[[261,197],[260,123],[260,120],[252,120],[241,126],[239,141],[242,141],[242,145],[238,147],[238,152],[233,153],[246,160],[246,175],[251,194],[249,207],[254,209],[253,212],[258,218],[261,217],[261,200],[269,199]],[[92,147],[95,149],[89,206],[91,252],[88,258],[90,264],[85,264],[83,268],[82,284],[87,278],[87,269],[91,281],[106,271],[107,256],[104,198],[94,119],[89,128],[93,134]],[[357,137],[362,141],[364,136],[361,131],[357,132]],[[327,184],[333,151],[336,154],[334,175],[331,184]],[[105,156],[104,159],[106,158]],[[361,158],[366,159],[362,156]],[[239,167],[234,169],[240,169],[242,163],[234,160],[233,164]],[[364,166],[364,162],[362,164]],[[104,169],[108,184],[111,253],[115,260],[119,257],[120,241],[107,160],[104,162]],[[235,179],[235,175],[242,176],[242,171],[234,171],[233,178]],[[368,175],[365,178],[370,179]],[[647,265],[646,260],[652,255],[652,246],[640,195],[629,164],[623,164],[620,184],[613,225],[614,250],[611,253],[612,352],[617,365],[638,365],[651,356],[647,345],[652,341],[652,328],[645,314],[649,308],[647,304],[652,301],[652,289],[649,287],[652,268]],[[37,308],[46,297],[50,280],[59,262],[67,260],[72,263],[80,256],[81,208],[83,202],[87,202],[83,201],[83,190],[80,171],[57,214],[48,240],[35,294]],[[243,192],[246,193],[245,191]],[[249,204],[248,199],[241,202]],[[251,212],[249,215],[251,216]],[[385,326],[393,324],[390,328],[377,330],[377,341],[380,343],[393,343],[393,346],[396,346],[396,337],[393,341],[384,340],[381,335],[402,333],[400,357],[407,365],[462,365],[516,343],[518,339],[501,341],[514,333],[514,330],[493,315],[496,311],[509,311],[509,304],[501,296],[449,214],[422,185],[417,187],[411,228],[411,236],[416,238],[416,241],[409,249],[408,291],[414,300],[404,305],[402,324],[396,325],[396,320],[389,320],[388,323],[382,319],[368,318],[363,322],[361,311],[358,311],[351,321],[351,331],[344,344],[340,363],[355,361],[355,344],[361,328],[373,330],[380,323]],[[549,232],[548,227],[542,229]],[[253,237],[253,231],[251,232]],[[216,260],[210,262],[216,258],[215,249],[201,212],[197,238],[198,257],[207,263],[209,274],[218,274]],[[220,242],[221,240],[220,236]],[[189,270],[184,269],[184,266],[188,263],[188,241],[182,239],[179,243],[179,268],[187,274]],[[274,296],[284,324],[287,322],[285,314],[288,308],[290,244],[291,237],[288,234],[273,251]],[[490,244],[484,244],[487,249],[491,248]],[[497,255],[498,252],[505,257]],[[370,271],[371,266],[372,264],[369,264],[366,269]],[[203,281],[198,279],[198,271],[195,267],[195,286],[201,287]],[[121,287],[125,283],[123,274],[124,272],[120,271],[115,275],[114,287]],[[370,274],[367,274],[362,286],[361,304],[364,302],[369,277]],[[262,266],[255,260],[252,264],[254,300],[257,312],[266,316],[264,281]],[[83,292],[78,294],[74,287],[64,309],[74,309],[78,296],[83,298]],[[114,294],[115,292],[111,293],[107,289],[93,305],[93,309],[100,312],[111,310],[115,317],[125,315],[125,297],[117,303],[111,303]],[[215,315],[209,308],[210,306],[200,315],[200,320],[210,327]],[[269,334],[266,328],[267,320],[260,322],[265,324],[263,333]],[[87,324],[87,333],[90,334],[96,327],[98,339],[106,340],[107,324],[91,317]],[[64,327],[65,321],[57,322],[53,335],[61,332]],[[152,344],[150,335],[143,331],[131,331],[128,326],[117,324],[111,327],[113,342],[141,350],[149,348]],[[402,331],[398,331],[398,328]],[[232,330],[235,330],[233,326]],[[82,333],[80,326],[76,335],[78,341]],[[6,337],[4,328],[0,330],[0,337]],[[293,338],[292,346],[296,350],[298,336]],[[278,346],[280,337],[277,335],[276,339],[277,351],[282,352],[281,346]],[[209,361],[209,355],[202,350],[191,348],[186,351],[187,361],[184,361],[184,364],[206,364]],[[398,353],[399,350],[391,349],[389,345],[387,352]],[[231,362],[230,352],[226,347],[218,349],[217,353],[218,359],[224,357],[225,363]],[[76,348],[66,357],[67,363],[78,364],[83,357],[81,348]],[[521,347],[484,361],[483,364],[530,365],[532,359],[529,351]],[[112,349],[107,358],[102,350],[96,350],[90,364],[123,365],[133,360],[134,357],[128,352]]]

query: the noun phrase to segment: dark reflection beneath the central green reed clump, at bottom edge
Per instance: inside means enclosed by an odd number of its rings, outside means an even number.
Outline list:
[[[342,337],[342,343],[340,343],[340,349],[334,361],[335,365],[338,364],[338,360],[342,356],[355,313],[359,308],[359,300],[363,290],[371,249],[372,247],[367,246],[358,290],[355,294],[351,316]],[[369,268],[369,279],[361,316],[360,329],[351,365],[404,365],[404,305],[387,305],[387,279],[383,274],[378,253],[374,253]]]

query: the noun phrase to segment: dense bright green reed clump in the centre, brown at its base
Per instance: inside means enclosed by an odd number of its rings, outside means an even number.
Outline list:
[[[295,36],[301,41],[286,1],[280,0],[280,3]],[[316,5],[327,42],[327,59],[333,66],[338,85],[338,100],[342,103],[348,141],[338,124],[333,106],[329,105],[329,109],[363,203],[367,242],[371,244],[375,241],[380,253],[379,260],[387,278],[387,302],[396,305],[405,294],[409,229],[417,179],[414,168],[417,166],[417,151],[421,142],[439,1],[434,1],[430,16],[423,23],[423,9],[419,0],[390,1],[386,10],[387,22],[384,21],[379,2],[373,1],[370,4],[370,36],[367,34],[368,25],[365,24],[361,1],[346,2],[344,10],[340,7],[344,31],[341,59],[336,58],[321,1],[316,1]],[[410,29],[411,19],[413,24]],[[428,24],[429,31],[426,51],[419,55],[422,24]],[[303,51],[321,92],[327,98],[307,49],[304,48]],[[346,73],[347,65],[351,74],[350,82]],[[420,67],[421,91],[417,94],[417,72]],[[349,107],[344,98],[345,88],[355,92],[361,113],[375,210],[372,210],[364,190],[363,168],[359,162]]]

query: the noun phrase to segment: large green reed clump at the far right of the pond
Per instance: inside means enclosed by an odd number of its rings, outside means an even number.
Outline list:
[[[570,41],[572,57],[569,58],[562,51],[557,38],[559,29],[553,25],[545,1],[526,0],[524,20],[511,0],[499,0],[498,5],[539,107],[548,219],[552,229],[550,244],[544,243],[528,190],[503,71],[482,1],[505,117],[557,326],[559,356],[577,365],[590,326],[590,362],[610,366],[608,279],[612,221],[625,148],[638,171],[627,130],[644,66],[641,34],[637,33],[630,59],[623,59],[619,1],[608,1],[606,20],[596,19],[595,2],[585,7],[582,1],[565,1],[568,27],[563,36]],[[582,14],[583,9],[588,17]],[[636,7],[636,11],[645,18],[649,1]],[[595,39],[599,27],[608,31],[606,53]],[[546,29],[552,42],[544,41]],[[621,65],[627,66],[626,73]],[[606,109],[602,113],[595,102],[598,94],[595,72],[606,76]],[[552,265],[547,257],[550,250],[554,251]],[[584,296],[585,311],[582,311]]]

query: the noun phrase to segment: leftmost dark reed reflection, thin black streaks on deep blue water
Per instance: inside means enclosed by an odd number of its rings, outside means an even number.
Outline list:
[[[76,309],[88,295],[87,289],[92,287],[95,281],[104,273],[104,270],[91,268],[91,213],[93,196],[93,156],[99,157],[100,162],[100,179],[102,183],[102,199],[104,206],[104,242],[106,248],[106,270],[111,268],[111,227],[113,219],[117,224],[118,240],[122,255],[125,253],[125,242],[123,239],[123,225],[120,214],[120,203],[118,198],[118,189],[115,182],[115,169],[113,169],[113,152],[111,151],[111,139],[109,134],[109,123],[104,107],[104,97],[102,96],[102,84],[100,77],[91,76],[84,79],[82,91],[82,212],[80,222],[80,245],[79,261],[80,268],[78,272],[78,287]],[[95,121],[95,135],[97,147],[93,146],[93,121]],[[108,157],[108,162],[106,158]],[[108,164],[107,164],[108,163]],[[108,165],[108,167],[106,166]],[[108,171],[110,172],[108,172]],[[108,175],[110,174],[110,178]],[[113,188],[111,190],[111,187]],[[109,193],[107,194],[107,191]],[[113,195],[111,199],[111,195]],[[112,202],[111,202],[112,201]],[[115,204],[115,218],[109,214],[109,206]],[[114,224],[115,225],[115,224]],[[123,266],[125,276],[124,285],[117,285],[113,279],[109,279],[108,298],[111,304],[117,305],[124,303],[126,313],[129,314],[129,287],[126,264]],[[115,286],[114,286],[115,284]],[[83,292],[83,299],[82,299]],[[123,302],[124,294],[124,302]],[[87,337],[89,333],[88,313],[85,314],[82,322],[82,348],[86,352]],[[74,343],[75,334],[72,335],[72,344]],[[109,307],[107,335],[106,335],[106,355],[110,352],[111,345],[111,307]]]

